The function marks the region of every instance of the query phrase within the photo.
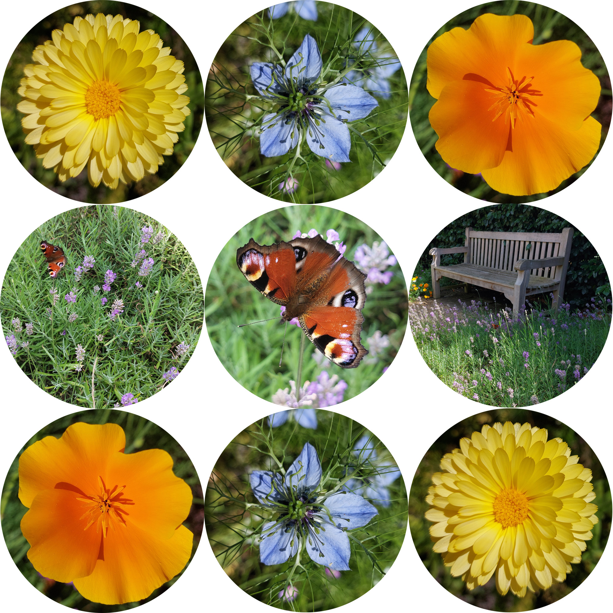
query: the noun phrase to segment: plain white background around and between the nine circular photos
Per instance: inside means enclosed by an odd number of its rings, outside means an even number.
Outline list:
[[[360,13],[383,32],[397,51],[407,79],[429,37],[454,15],[474,6],[472,2],[457,0],[352,0],[338,4]],[[2,69],[28,29],[62,6],[63,2],[48,0],[4,5]],[[149,0],[145,6],[167,21],[185,40],[199,63],[203,78],[228,34],[245,18],[262,9],[261,2],[253,0],[231,3]],[[612,11],[608,2],[555,0],[549,2],[549,6],[583,28],[608,66],[613,66]],[[579,181],[539,203],[584,232],[609,266],[609,271],[613,267],[609,179],[612,146],[610,142],[605,143],[592,167]],[[0,275],[4,276],[13,254],[32,230],[52,216],[75,208],[77,203],[58,196],[30,177],[10,151],[3,135],[0,135],[0,156],[3,201],[0,227],[4,243],[0,253]],[[383,173],[359,192],[331,203],[373,227],[397,256],[406,278],[410,278],[430,239],[446,224],[478,208],[479,204],[478,200],[460,193],[436,175],[417,148],[409,126]],[[277,208],[276,202],[243,185],[225,167],[213,148],[206,126],[176,178],[126,205],[151,215],[177,234],[194,258],[203,283],[230,236],[256,216]],[[32,274],[39,276],[40,283],[48,283],[42,268],[32,270]],[[609,476],[613,476],[609,392],[612,344],[609,340],[585,381],[561,397],[538,406],[541,412],[560,419],[583,436]],[[21,446],[44,425],[73,413],[75,408],[36,387],[21,373],[4,346],[0,347],[0,372],[3,378],[0,480],[3,481]],[[383,440],[397,459],[407,488],[425,451],[441,433],[461,419],[487,409],[444,386],[419,356],[409,332],[383,383],[376,383],[339,408],[341,413],[364,424]],[[204,331],[181,376],[159,394],[135,405],[134,409],[179,441],[196,465],[204,485],[226,444],[243,427],[268,414],[270,404],[235,383],[219,363]],[[612,555],[609,547],[587,581],[563,600],[550,605],[547,611],[576,611],[586,602],[593,610],[596,606],[598,611],[599,604],[605,602],[606,596],[610,597]],[[60,610],[58,604],[26,582],[2,545],[0,577],[3,604],[13,604],[15,609],[18,607],[24,612]],[[370,613],[376,607],[378,611],[397,611],[406,609],[409,602],[416,608],[428,606],[430,611],[443,610],[443,607],[446,610],[454,607],[454,611],[475,610],[446,592],[429,576],[407,531],[403,549],[387,577],[342,610]],[[226,611],[235,611],[238,607],[251,607],[254,611],[267,609],[265,604],[235,587],[216,562],[203,535],[184,576],[172,589],[147,604],[147,611],[201,610],[205,603],[223,606]]]

